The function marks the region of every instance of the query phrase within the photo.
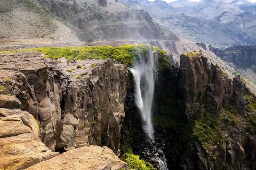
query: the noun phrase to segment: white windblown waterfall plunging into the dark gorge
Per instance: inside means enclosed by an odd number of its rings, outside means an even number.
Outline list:
[[[140,59],[134,58],[133,66],[129,70],[135,80],[135,103],[144,121],[143,130],[154,140],[154,129],[151,121],[151,107],[154,96],[154,56],[151,47],[148,46],[148,48],[149,55],[146,59],[142,56]]]

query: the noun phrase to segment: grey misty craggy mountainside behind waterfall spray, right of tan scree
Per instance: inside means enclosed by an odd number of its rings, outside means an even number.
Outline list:
[[[82,41],[90,38],[179,40],[157,24],[145,11],[134,10],[115,0],[36,0],[56,17],[70,22]],[[108,5],[107,5],[108,4]],[[114,15],[113,15],[114,14]]]

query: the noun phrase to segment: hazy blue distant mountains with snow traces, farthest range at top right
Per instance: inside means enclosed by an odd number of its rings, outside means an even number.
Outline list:
[[[121,0],[135,9],[148,11],[164,27],[191,40],[219,47],[256,44],[256,15],[246,0]],[[246,10],[245,10],[246,8]]]

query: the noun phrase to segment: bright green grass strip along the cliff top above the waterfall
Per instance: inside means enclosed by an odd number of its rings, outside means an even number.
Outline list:
[[[165,59],[167,52],[151,46],[154,52],[159,53],[159,58],[164,60],[161,67],[167,67],[168,61]],[[140,59],[141,56],[148,57],[149,49],[146,45],[126,45],[119,47],[111,46],[95,46],[95,47],[42,47],[33,49],[23,49],[20,51],[2,51],[1,53],[17,53],[17,52],[42,52],[47,58],[59,59],[66,57],[72,60],[75,57],[77,60],[96,59],[105,60],[108,58],[115,59],[118,62],[126,63],[132,66],[133,58]]]

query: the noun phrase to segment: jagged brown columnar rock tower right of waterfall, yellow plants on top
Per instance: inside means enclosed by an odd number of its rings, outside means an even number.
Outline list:
[[[222,77],[218,66],[211,64],[208,68],[207,58],[200,51],[180,56],[181,94],[184,96],[185,114],[193,114],[204,110],[200,100],[206,100],[214,110],[229,103],[233,95],[233,85],[230,79]],[[192,56],[189,56],[192,55]]]

